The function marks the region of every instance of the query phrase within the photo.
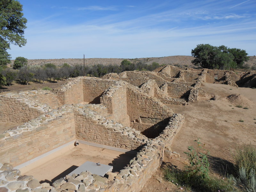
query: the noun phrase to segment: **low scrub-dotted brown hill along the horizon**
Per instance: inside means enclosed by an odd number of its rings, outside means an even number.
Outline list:
[[[191,63],[191,60],[193,60],[194,57],[192,56],[183,56],[183,55],[176,55],[176,56],[167,56],[167,57],[148,57],[148,58],[136,58],[136,59],[127,59],[132,62],[145,62],[147,64],[151,64],[153,62],[157,62],[160,65],[161,64],[170,64],[170,65],[180,65],[181,67],[183,66],[188,66],[192,67],[194,66]],[[97,65],[97,64],[102,64],[102,65],[120,65],[122,62],[122,59],[118,58],[86,58],[85,59],[85,65]],[[11,65],[13,64],[14,60],[12,60]],[[31,59],[28,60],[28,65],[44,65],[45,63],[52,63],[55,64],[56,66],[61,66],[63,63],[68,63],[69,65],[83,65],[84,64],[84,59]],[[250,56],[249,61],[247,62],[250,66],[256,65],[256,56]]]

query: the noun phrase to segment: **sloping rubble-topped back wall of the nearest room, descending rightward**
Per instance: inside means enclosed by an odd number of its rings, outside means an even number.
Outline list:
[[[125,149],[136,149],[148,140],[139,131],[108,120],[86,105],[71,108],[75,112],[77,139]]]

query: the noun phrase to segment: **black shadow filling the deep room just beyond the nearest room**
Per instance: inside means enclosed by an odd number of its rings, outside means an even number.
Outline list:
[[[157,124],[154,124],[153,126],[149,127],[148,129],[145,129],[143,132],[141,132],[143,135],[145,135],[149,139],[154,139],[159,136],[159,134],[164,130],[164,128],[167,126],[169,120],[171,117],[168,117],[162,121],[159,121]]]

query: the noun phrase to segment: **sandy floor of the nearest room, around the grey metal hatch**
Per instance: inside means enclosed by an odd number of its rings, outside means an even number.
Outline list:
[[[86,161],[110,165],[113,166],[112,172],[119,172],[129,164],[134,156],[131,153],[79,144],[71,150],[68,149],[58,158],[47,161],[45,164],[22,174],[33,175],[40,183],[52,183],[57,179],[65,177]]]

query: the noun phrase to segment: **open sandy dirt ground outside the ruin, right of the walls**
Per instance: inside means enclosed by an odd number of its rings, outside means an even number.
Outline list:
[[[232,155],[236,148],[244,144],[252,144],[256,147],[256,120],[254,120],[256,119],[256,107],[237,108],[225,97],[231,94],[241,94],[256,104],[256,89],[207,83],[202,88],[218,99],[201,98],[187,106],[169,105],[175,113],[185,116],[185,123],[173,140],[172,151],[186,158],[183,152],[188,151],[188,146],[195,145],[194,140],[201,138],[201,142],[205,144],[204,147],[210,152],[208,160],[211,174],[222,176],[225,172],[223,167],[228,166],[232,169]],[[239,122],[239,120],[244,120],[244,122]],[[148,180],[141,192],[184,191],[180,189],[182,186],[164,180],[165,164],[175,164],[179,169],[184,168],[184,164],[165,157],[163,165]]]

